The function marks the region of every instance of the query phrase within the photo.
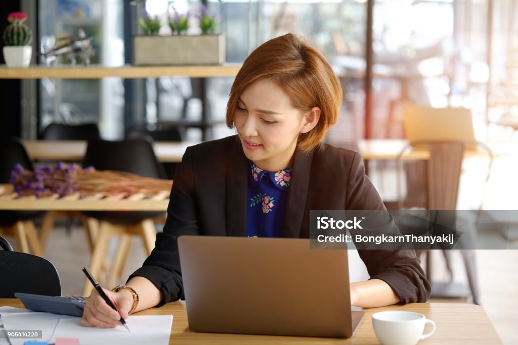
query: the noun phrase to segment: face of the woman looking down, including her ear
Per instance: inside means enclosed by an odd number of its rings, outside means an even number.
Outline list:
[[[244,155],[263,170],[278,171],[290,165],[299,134],[316,125],[320,109],[316,122],[314,116],[293,108],[274,82],[258,80],[240,95],[234,124]]]

